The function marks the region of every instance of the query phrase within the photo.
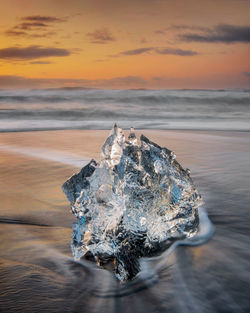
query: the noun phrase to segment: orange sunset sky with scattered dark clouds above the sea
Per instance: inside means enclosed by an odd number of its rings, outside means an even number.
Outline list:
[[[0,88],[250,88],[248,0],[0,0]]]

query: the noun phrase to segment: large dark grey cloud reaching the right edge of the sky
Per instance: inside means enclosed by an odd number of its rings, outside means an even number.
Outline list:
[[[179,35],[179,39],[188,42],[206,43],[249,43],[250,26],[237,26],[219,24],[212,29],[200,33],[184,33]]]

